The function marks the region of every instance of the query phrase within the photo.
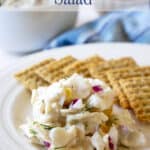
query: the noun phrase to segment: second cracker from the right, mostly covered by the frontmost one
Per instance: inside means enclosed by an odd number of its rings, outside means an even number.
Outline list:
[[[119,80],[132,77],[150,76],[150,67],[128,67],[123,69],[111,70],[107,72],[107,77],[114,91],[116,92],[120,105],[123,108],[130,108],[128,98],[124,94]]]

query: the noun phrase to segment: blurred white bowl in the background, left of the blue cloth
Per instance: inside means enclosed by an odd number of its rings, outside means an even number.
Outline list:
[[[40,11],[0,8],[0,49],[28,53],[40,50],[71,28],[77,11]]]

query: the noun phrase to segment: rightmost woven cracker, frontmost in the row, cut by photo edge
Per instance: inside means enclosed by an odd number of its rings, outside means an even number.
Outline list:
[[[150,76],[121,79],[119,83],[136,117],[150,122]]]

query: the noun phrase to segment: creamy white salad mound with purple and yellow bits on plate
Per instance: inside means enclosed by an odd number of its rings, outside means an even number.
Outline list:
[[[33,90],[33,118],[21,125],[47,150],[133,150],[144,146],[128,110],[114,109],[114,92],[78,74]]]

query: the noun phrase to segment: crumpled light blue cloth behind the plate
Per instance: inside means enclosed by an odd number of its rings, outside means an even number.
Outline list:
[[[150,43],[150,10],[115,11],[53,39],[47,48],[95,42]]]

